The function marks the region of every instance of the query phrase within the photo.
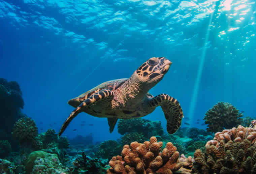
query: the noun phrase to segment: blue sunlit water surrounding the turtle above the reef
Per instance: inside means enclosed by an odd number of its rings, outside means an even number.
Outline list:
[[[191,126],[206,128],[201,119],[219,101],[255,117],[255,12],[253,0],[0,0],[0,77],[20,84],[39,133],[59,131],[69,99],[154,56],[173,64],[150,93],[177,98]],[[144,118],[166,130],[160,107]],[[106,118],[81,113],[63,136],[120,137],[108,129]]]

